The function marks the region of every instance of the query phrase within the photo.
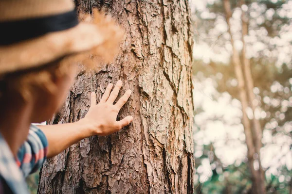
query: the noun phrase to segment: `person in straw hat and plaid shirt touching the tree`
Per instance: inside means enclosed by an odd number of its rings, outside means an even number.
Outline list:
[[[28,194],[24,177],[46,158],[132,122],[132,116],[116,121],[131,95],[128,90],[113,104],[122,87],[117,81],[98,104],[91,93],[91,107],[79,121],[31,125],[52,118],[80,68],[108,62],[118,49],[121,29],[108,16],[91,18],[79,22],[72,0],[0,1],[0,194]]]

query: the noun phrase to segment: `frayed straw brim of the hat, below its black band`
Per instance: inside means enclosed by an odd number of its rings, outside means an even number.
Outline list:
[[[79,23],[68,30],[0,46],[0,74],[45,65],[62,56],[97,48],[108,41],[111,43],[106,44],[107,50],[95,50],[111,52],[113,47],[118,47],[122,34],[121,29],[112,21],[98,24]]]

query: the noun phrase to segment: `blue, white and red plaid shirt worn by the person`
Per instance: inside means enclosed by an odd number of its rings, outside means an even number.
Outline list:
[[[37,171],[45,161],[47,147],[45,134],[31,125],[27,140],[15,159],[0,134],[0,194],[28,194],[24,178]]]

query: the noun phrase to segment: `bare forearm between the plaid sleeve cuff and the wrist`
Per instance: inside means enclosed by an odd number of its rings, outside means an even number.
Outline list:
[[[47,137],[48,154],[52,158],[76,142],[93,134],[90,127],[82,119],[75,123],[38,126]]]

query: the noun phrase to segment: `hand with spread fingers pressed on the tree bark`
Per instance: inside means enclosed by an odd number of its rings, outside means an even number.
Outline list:
[[[116,120],[118,113],[131,95],[131,90],[127,90],[124,96],[113,105],[122,84],[122,81],[118,81],[111,92],[113,85],[110,83],[98,104],[96,104],[95,93],[91,93],[91,107],[80,122],[89,126],[92,135],[109,135],[129,125],[133,121],[132,116],[127,116],[120,121]]]

